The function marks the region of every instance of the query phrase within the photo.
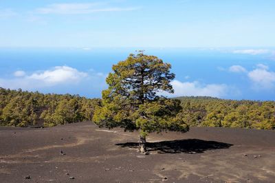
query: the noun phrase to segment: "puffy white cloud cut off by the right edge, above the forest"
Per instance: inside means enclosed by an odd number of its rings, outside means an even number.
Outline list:
[[[248,77],[257,89],[274,87],[275,72],[268,71],[268,66],[259,64],[257,68],[248,73]]]

